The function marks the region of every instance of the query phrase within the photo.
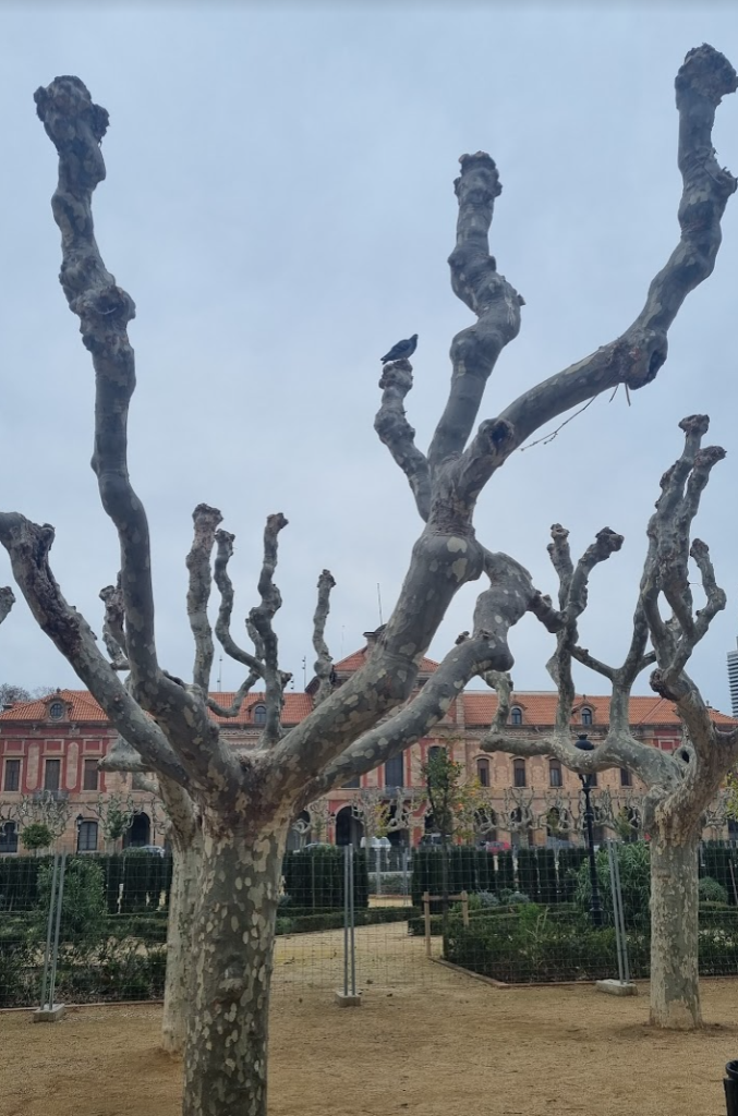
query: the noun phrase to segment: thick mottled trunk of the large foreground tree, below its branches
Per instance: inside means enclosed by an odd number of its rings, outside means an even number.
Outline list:
[[[266,1116],[269,988],[287,819],[256,834],[204,828],[182,1113]]]

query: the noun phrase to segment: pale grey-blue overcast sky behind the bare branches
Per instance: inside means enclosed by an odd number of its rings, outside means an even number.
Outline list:
[[[463,152],[490,152],[504,193],[492,251],[525,296],[482,416],[605,344],[632,320],[678,238],[673,78],[702,41],[738,62],[738,8],[396,2],[6,3],[0,13],[2,329],[0,507],[54,523],[67,598],[99,631],[116,539],[89,469],[93,375],[57,282],[49,209],[56,156],[32,94],[76,74],[111,114],[107,181],[95,196],[107,267],[133,296],[138,387],[131,468],[148,511],[162,663],[185,675],[191,512],[207,501],[237,536],[243,616],[255,603],[265,517],[282,511],[278,617],[285,668],[303,686],[324,566],[337,580],[334,657],[387,618],[419,522],[372,429],[378,357],[420,334],[409,413],[421,445],[443,404],[453,334],[452,181]],[[738,97],[719,109],[722,164],[738,172]],[[548,445],[518,453],[488,487],[477,526],[544,590],[548,529],[583,549],[610,526],[620,556],[597,570],[585,643],[617,658],[659,478],[679,420],[711,415],[729,456],[703,498],[728,609],[692,672],[728,708],[738,634],[735,478],[738,199],[715,275],[670,335],[656,382],[627,405],[597,400]],[[11,580],[4,551],[0,584]],[[431,654],[471,626],[454,603]],[[519,689],[548,689],[550,637],[512,637]],[[75,685],[19,600],[0,636],[0,681]],[[582,673],[579,689],[601,692]],[[222,687],[240,682],[223,663]],[[646,693],[648,679],[639,691]]]

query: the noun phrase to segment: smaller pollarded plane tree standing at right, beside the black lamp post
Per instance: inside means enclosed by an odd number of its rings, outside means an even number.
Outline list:
[[[701,1023],[698,982],[698,844],[706,811],[738,758],[738,729],[716,723],[687,665],[711,622],[726,606],[707,545],[690,545],[692,521],[720,446],[702,446],[709,421],[691,415],[681,423],[684,449],[661,479],[661,496],[648,527],[648,551],[633,615],[633,634],[623,663],[611,666],[579,643],[578,622],[586,608],[590,578],[597,565],[620,550],[622,535],[597,533],[574,562],[568,531],[555,523],[548,546],[559,581],[565,624],[548,662],[557,691],[550,734],[518,735],[508,728],[509,675],[487,675],[498,693],[495,723],[481,742],[489,752],[549,756],[583,775],[625,768],[646,787],[642,827],[651,838],[651,1022],[687,1029]],[[703,604],[696,608],[690,557],[699,570]],[[669,615],[662,615],[665,605]],[[573,662],[590,667],[611,687],[610,722],[591,750],[577,747],[572,730],[575,692]],[[630,723],[630,696],[639,675],[654,666],[650,683],[674,703],[683,743],[668,753],[640,742]],[[579,741],[579,745],[581,745]],[[594,742],[590,742],[592,745]]]

